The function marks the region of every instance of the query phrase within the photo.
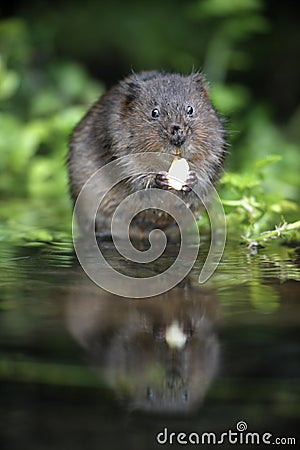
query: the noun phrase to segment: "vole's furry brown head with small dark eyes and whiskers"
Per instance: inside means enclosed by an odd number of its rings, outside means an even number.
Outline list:
[[[221,154],[224,130],[200,74],[142,72],[121,85],[128,150],[165,152],[189,160]]]

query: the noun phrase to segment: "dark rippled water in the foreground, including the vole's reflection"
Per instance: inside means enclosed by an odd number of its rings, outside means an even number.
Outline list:
[[[206,448],[205,432],[227,448],[241,421],[238,447],[298,439],[297,249],[229,242],[204,286],[200,261],[140,300],[99,289],[69,244],[0,251],[1,449]]]

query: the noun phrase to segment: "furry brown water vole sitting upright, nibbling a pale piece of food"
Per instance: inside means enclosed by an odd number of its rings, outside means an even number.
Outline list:
[[[201,74],[141,72],[103,95],[71,137],[68,167],[73,199],[88,178],[108,162],[149,152],[161,158],[160,170],[154,170],[152,158],[142,164],[118,165],[122,181],[106,194],[99,207],[98,234],[110,234],[115,208],[140,189],[172,190],[197,213],[200,202],[191,189],[197,184],[203,196],[209,194],[210,185],[222,172],[225,153],[224,127]],[[189,172],[178,191],[170,184],[166,154],[172,158],[179,155],[188,162]],[[81,225],[88,228],[92,221],[87,215]],[[161,210],[148,210],[137,217],[133,234],[143,235],[153,228],[167,230],[173,222]]]

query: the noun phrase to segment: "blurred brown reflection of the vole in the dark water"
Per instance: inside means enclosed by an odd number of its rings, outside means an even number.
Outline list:
[[[197,407],[216,374],[217,302],[188,281],[150,299],[121,298],[92,283],[72,288],[67,327],[99,376],[132,409]]]

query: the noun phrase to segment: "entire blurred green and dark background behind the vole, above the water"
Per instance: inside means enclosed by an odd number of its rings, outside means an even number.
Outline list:
[[[132,69],[205,73],[228,130],[229,224],[260,232],[297,219],[297,2],[12,0],[0,14],[2,239],[70,234],[68,137]]]

